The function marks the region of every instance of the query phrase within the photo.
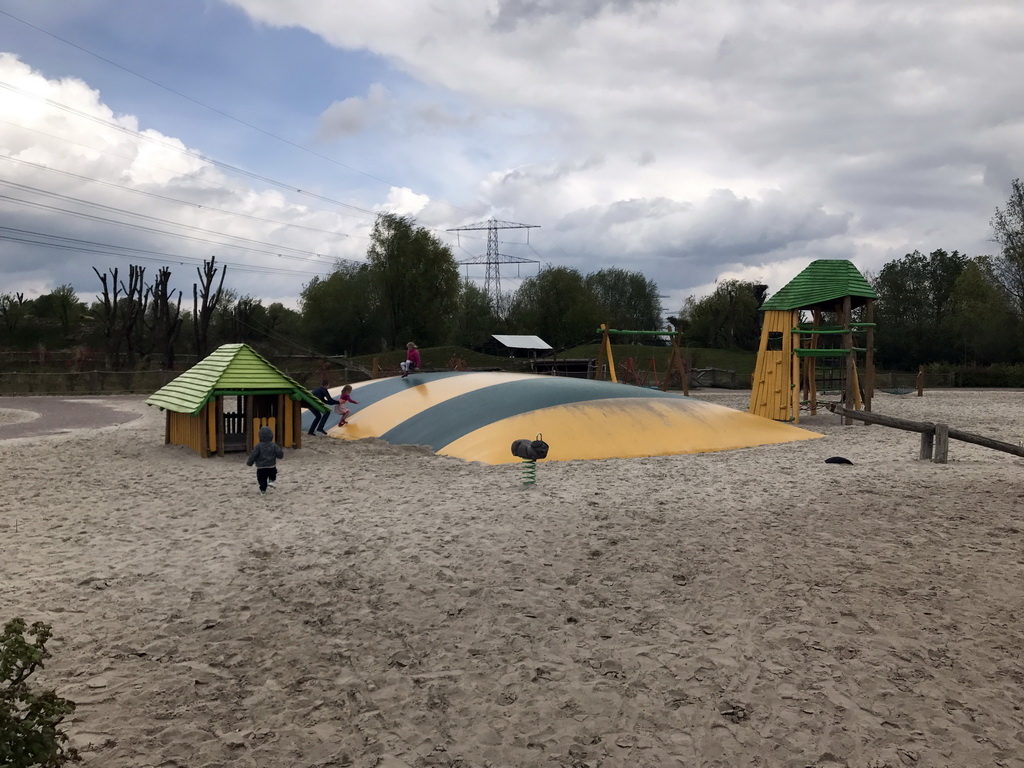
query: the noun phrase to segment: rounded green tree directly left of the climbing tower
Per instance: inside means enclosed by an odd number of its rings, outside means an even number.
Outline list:
[[[718,283],[701,299],[689,297],[676,318],[686,343],[716,349],[757,349],[767,287],[748,281]]]

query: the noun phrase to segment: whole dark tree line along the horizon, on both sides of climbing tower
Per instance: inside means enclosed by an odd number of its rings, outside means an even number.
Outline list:
[[[879,295],[876,359],[890,370],[921,365],[967,367],[1024,362],[1024,184],[991,219],[995,255],[913,251],[866,275]],[[452,250],[408,216],[377,217],[364,262],[340,262],[304,286],[299,308],[224,287],[227,269],[214,258],[197,270],[191,296],[170,288],[170,269],[152,279],[95,270],[99,294],[81,301],[69,286],[36,299],[0,295],[0,346],[7,349],[99,350],[118,368],[199,357],[230,342],[270,353],[296,347],[323,355],[360,355],[442,344],[479,349],[493,334],[537,335],[556,349],[595,340],[611,328],[665,327],[656,284],[620,268],[584,274],[547,267],[512,293],[487,296],[459,276]],[[190,298],[190,301],[188,300]],[[719,283],[690,297],[669,323],[691,347],[756,350],[767,286]],[[183,300],[184,299],[184,303]],[[1024,383],[1024,381],[1022,381]]]

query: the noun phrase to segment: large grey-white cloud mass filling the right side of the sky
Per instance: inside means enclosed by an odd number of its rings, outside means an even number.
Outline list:
[[[1024,164],[1016,0],[232,1],[438,93],[543,115],[557,160],[477,166],[477,199],[544,224],[556,258],[643,264],[666,289],[780,280],[825,253],[877,269],[981,252]]]

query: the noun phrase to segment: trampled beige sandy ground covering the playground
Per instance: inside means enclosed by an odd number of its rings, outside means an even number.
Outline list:
[[[1022,399],[876,411],[1017,442]],[[86,766],[1024,766],[1013,456],[824,414],[529,487],[319,438],[260,497],[109,411],[0,440],[0,621],[53,625]]]

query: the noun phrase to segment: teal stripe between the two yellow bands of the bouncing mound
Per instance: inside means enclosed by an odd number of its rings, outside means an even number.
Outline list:
[[[683,399],[682,395],[660,390],[589,379],[544,376],[509,381],[481,387],[421,411],[382,434],[381,439],[399,445],[429,445],[440,451],[480,427],[529,411],[592,400],[666,397]]]

